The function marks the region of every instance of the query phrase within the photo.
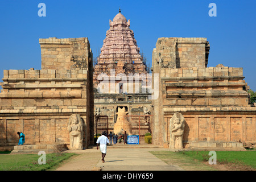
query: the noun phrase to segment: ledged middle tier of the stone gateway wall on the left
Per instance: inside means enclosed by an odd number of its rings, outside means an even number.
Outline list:
[[[87,73],[86,69],[5,71],[0,109],[82,109]]]

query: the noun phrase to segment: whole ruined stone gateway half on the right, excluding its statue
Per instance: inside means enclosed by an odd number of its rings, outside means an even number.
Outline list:
[[[152,143],[168,147],[170,119],[185,118],[184,148],[243,150],[256,140],[256,107],[249,103],[242,68],[207,67],[206,38],[159,38],[152,70],[159,74]]]

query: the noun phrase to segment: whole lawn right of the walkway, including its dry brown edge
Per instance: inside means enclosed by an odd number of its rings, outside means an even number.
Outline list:
[[[189,171],[248,170],[256,169],[256,151],[216,151],[217,164],[209,165],[209,151],[151,151],[167,164],[180,166]],[[225,166],[228,165],[228,166]]]

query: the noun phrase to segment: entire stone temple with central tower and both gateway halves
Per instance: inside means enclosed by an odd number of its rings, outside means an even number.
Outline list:
[[[255,143],[256,107],[242,68],[207,67],[207,38],[159,38],[148,69],[130,25],[119,10],[96,63],[88,38],[48,38],[39,39],[40,70],[5,70],[1,150],[82,150],[102,131],[151,133],[152,144],[178,150]]]

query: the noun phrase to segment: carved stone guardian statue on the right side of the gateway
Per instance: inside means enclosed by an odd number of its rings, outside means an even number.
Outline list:
[[[181,113],[174,113],[170,119],[170,147],[172,149],[183,149],[185,118]]]

